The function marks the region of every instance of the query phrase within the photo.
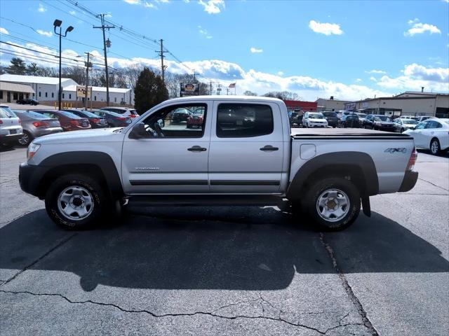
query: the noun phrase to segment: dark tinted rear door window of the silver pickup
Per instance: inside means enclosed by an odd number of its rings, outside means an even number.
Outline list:
[[[263,104],[220,104],[217,137],[260,137],[273,132],[273,112]]]

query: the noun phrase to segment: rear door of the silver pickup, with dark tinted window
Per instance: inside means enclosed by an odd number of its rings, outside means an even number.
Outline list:
[[[213,193],[279,193],[281,110],[274,103],[215,101],[209,180]]]

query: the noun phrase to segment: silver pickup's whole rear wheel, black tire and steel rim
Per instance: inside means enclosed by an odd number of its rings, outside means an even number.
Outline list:
[[[356,220],[360,193],[347,179],[323,179],[311,186],[304,205],[321,230],[340,231]]]

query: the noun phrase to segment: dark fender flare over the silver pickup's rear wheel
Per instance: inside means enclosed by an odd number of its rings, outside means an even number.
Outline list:
[[[379,193],[379,180],[373,158],[366,153],[344,151],[321,154],[304,163],[288,186],[287,198],[289,200],[297,198],[295,195],[300,195],[304,184],[309,181],[314,172],[323,168],[332,170],[337,167],[358,167],[362,172],[362,176],[358,178],[364,184],[364,190],[361,190],[361,193],[364,193],[366,197]]]

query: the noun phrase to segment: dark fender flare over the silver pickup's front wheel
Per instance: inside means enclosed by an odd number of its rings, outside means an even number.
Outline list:
[[[113,197],[122,197],[123,186],[117,167],[111,156],[98,151],[73,151],[58,153],[44,159],[39,166],[45,167],[46,172],[53,168],[67,165],[95,165],[105,176],[107,187]]]

